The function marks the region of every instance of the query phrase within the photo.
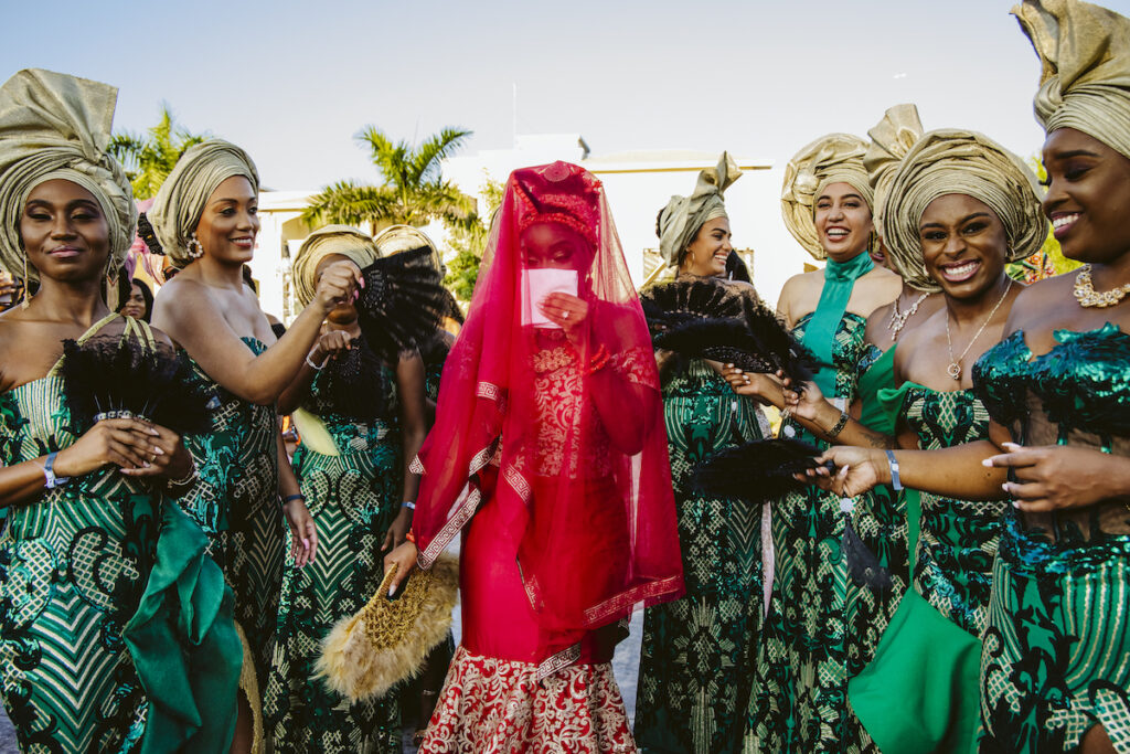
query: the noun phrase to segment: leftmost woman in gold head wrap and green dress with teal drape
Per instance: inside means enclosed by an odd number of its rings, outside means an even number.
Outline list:
[[[221,751],[240,648],[205,537],[171,500],[192,458],[140,418],[78,435],[60,376],[64,340],[172,348],[104,300],[137,219],[105,153],[116,95],[42,70],[0,88],[0,263],[29,292],[0,317],[0,693],[23,751]],[[189,609],[177,631],[169,610]]]

